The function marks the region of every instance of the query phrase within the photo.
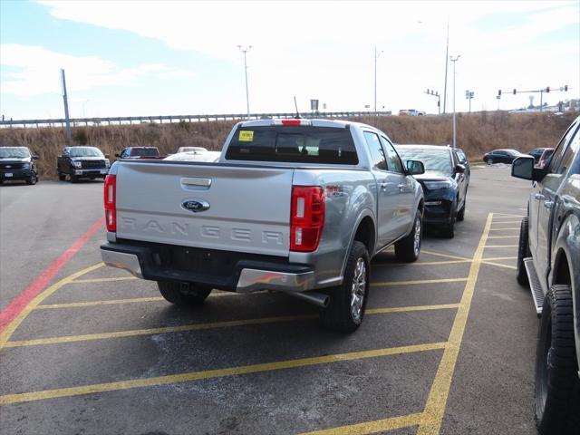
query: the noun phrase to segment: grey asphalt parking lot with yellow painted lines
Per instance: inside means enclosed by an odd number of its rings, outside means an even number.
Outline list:
[[[178,308],[102,266],[102,182],[0,188],[0,309],[45,278],[0,333],[0,433],[536,433],[537,319],[515,279],[529,184],[508,170],[472,169],[454,239],[374,258],[351,335],[286,295]]]

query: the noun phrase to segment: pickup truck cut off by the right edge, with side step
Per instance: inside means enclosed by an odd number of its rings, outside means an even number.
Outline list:
[[[580,428],[580,117],[544,168],[514,160],[512,176],[534,181],[522,219],[517,282],[540,315],[536,346],[536,426],[540,434]]]

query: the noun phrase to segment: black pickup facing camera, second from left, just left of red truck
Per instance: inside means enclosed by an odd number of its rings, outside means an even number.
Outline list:
[[[111,166],[108,157],[94,147],[66,147],[56,161],[58,179],[104,179]]]

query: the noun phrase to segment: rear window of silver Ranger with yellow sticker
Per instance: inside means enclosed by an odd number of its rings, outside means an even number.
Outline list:
[[[351,131],[303,125],[238,127],[226,159],[338,165],[359,162]]]

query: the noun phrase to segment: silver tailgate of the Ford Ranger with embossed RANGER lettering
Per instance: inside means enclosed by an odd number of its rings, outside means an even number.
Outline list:
[[[117,237],[288,256],[293,175],[219,163],[120,162]],[[192,211],[200,205],[209,208]]]

